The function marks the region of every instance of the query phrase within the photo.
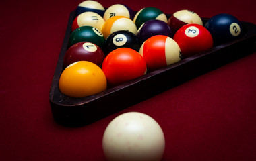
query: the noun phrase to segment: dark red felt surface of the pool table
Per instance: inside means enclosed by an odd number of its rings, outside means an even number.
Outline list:
[[[90,125],[55,123],[49,90],[69,13],[80,2],[0,2],[0,160],[104,160],[106,126],[129,111],[161,125],[162,160],[256,160],[256,52]],[[256,23],[253,0],[99,2],[170,14],[189,9],[201,17],[230,13]]]

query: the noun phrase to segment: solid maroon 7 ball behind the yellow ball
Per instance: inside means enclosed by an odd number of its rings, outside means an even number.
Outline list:
[[[65,52],[63,67],[66,68],[73,62],[88,61],[102,66],[105,58],[104,52],[96,44],[91,42],[77,42]]]

